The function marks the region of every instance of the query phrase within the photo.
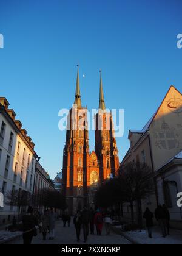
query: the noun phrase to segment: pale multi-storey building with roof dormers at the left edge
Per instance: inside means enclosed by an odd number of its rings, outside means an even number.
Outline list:
[[[7,99],[0,98],[0,191],[4,199],[7,191],[21,189],[33,193],[38,158],[35,144],[8,105]],[[14,215],[18,215],[18,208],[0,207],[0,225],[12,221]]]

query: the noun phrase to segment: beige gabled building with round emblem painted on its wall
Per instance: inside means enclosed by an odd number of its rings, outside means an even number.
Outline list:
[[[143,210],[157,204],[169,208],[172,224],[182,227],[181,208],[177,207],[177,192],[182,191],[182,95],[170,87],[157,112],[142,130],[129,131],[130,149],[123,159],[144,162],[152,168],[156,181],[155,197],[143,201]],[[129,207],[125,214],[130,214]]]

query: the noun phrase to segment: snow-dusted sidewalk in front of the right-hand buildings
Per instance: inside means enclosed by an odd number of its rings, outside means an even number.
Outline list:
[[[124,235],[132,243],[136,244],[182,244],[182,230],[171,229],[170,235],[163,238],[160,227],[153,227],[153,238],[148,237],[147,230],[123,232],[121,227],[115,227],[121,235]]]

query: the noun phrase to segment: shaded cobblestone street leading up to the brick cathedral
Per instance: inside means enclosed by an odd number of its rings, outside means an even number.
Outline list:
[[[81,230],[81,242],[83,243],[83,230]],[[8,244],[22,244],[22,237],[17,238]],[[73,223],[70,227],[63,227],[62,221],[56,222],[55,229],[55,240],[42,240],[42,234],[38,234],[33,238],[33,244],[77,244],[76,242],[76,232]],[[121,235],[116,235],[115,233],[110,233],[106,235],[106,230],[103,227],[103,235],[89,235],[88,244],[130,244],[128,240],[123,238]]]

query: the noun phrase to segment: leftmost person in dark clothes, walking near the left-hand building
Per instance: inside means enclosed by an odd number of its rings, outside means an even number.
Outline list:
[[[33,236],[37,235],[36,226],[38,225],[32,206],[28,207],[27,213],[22,217],[22,224],[24,244],[31,244]]]

